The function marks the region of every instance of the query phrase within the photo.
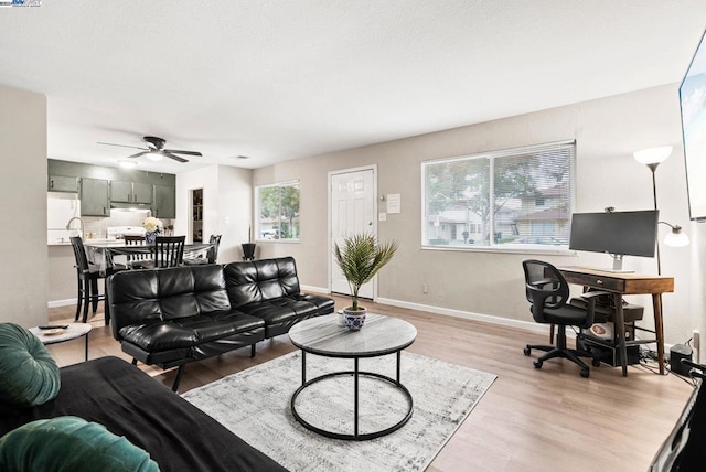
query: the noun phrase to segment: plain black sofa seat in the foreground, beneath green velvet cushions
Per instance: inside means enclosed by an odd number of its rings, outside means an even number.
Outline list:
[[[63,367],[60,375],[56,398],[30,408],[0,408],[0,437],[34,420],[76,416],[146,450],[162,472],[286,472],[128,362],[100,357]]]

